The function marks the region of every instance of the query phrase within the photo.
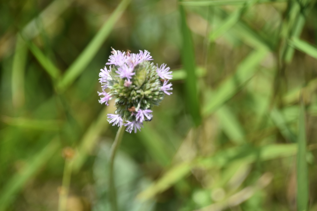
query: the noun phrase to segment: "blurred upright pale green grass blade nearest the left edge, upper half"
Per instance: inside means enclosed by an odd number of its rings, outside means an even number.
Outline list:
[[[23,38],[18,35],[16,39],[16,49],[12,64],[12,104],[19,108],[24,104],[24,71],[28,49]]]

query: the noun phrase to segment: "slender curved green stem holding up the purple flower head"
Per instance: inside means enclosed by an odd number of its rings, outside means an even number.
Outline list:
[[[119,127],[119,130],[117,132],[117,135],[113,141],[113,144],[111,146],[111,152],[110,152],[110,164],[109,164],[109,196],[110,196],[110,204],[113,211],[118,211],[118,203],[117,203],[117,193],[116,188],[114,184],[114,177],[113,177],[113,163],[114,163],[114,157],[116,155],[116,152],[119,148],[120,142],[122,140],[123,133],[125,131],[125,127]]]

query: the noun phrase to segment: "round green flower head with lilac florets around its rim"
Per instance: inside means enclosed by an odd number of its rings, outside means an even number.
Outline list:
[[[105,67],[100,70],[99,80],[102,92],[98,92],[99,102],[108,104],[115,99],[115,114],[108,114],[108,121],[126,131],[137,132],[143,127],[143,121],[152,120],[152,107],[159,105],[170,90],[172,79],[169,67],[160,67],[150,62],[152,56],[146,50],[139,53],[121,52],[113,49]],[[106,89],[109,89],[106,92]]]

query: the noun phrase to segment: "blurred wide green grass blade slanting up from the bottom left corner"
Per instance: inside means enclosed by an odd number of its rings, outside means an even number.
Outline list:
[[[21,172],[17,172],[1,189],[0,211],[7,210],[15,195],[23,188],[23,185],[33,177],[37,171],[51,158],[58,150],[60,144],[53,139],[41,152],[37,153],[29,162],[25,164]]]

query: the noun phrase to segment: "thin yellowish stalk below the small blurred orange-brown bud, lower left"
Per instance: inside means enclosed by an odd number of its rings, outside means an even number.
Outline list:
[[[58,202],[58,211],[66,210],[70,178],[72,175],[72,166],[73,166],[72,164],[73,164],[72,160],[70,159],[65,160],[62,187],[60,189],[59,202]]]

